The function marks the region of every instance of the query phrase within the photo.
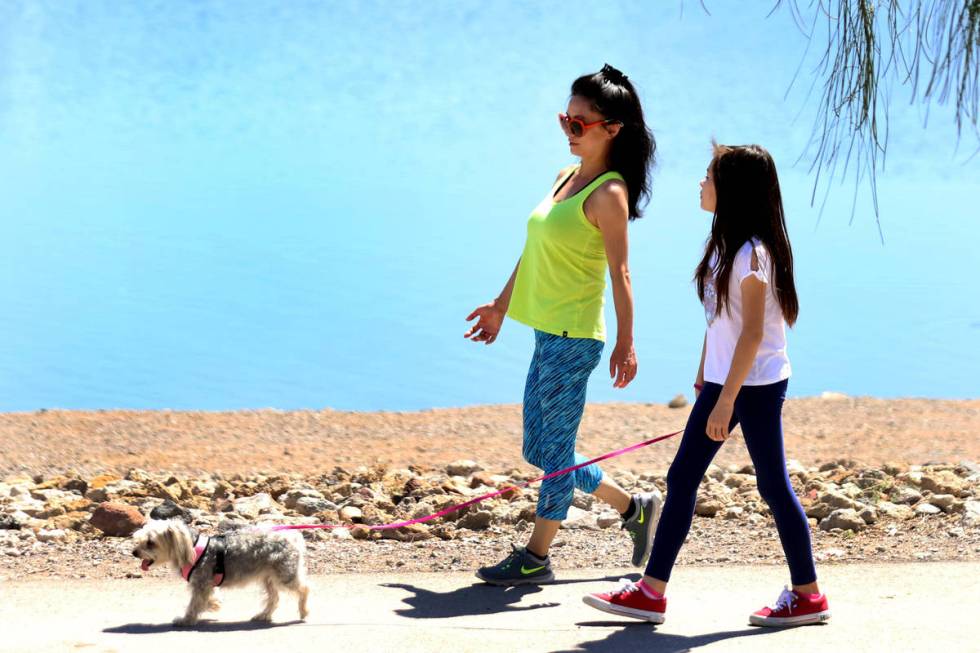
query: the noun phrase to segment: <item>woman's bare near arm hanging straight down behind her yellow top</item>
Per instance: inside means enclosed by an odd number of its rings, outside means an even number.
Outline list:
[[[596,189],[586,200],[584,209],[602,232],[616,304],[616,347],[609,357],[609,376],[614,388],[625,388],[636,376],[636,351],[633,349],[633,287],[629,272],[629,197],[626,184],[611,181]]]

